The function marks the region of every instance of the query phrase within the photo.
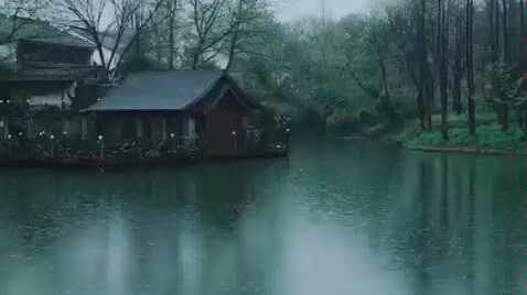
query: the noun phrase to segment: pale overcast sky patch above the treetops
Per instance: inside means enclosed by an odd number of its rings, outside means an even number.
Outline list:
[[[372,8],[379,8],[389,0],[281,0],[277,1],[278,14],[283,21],[291,21],[303,15],[322,15],[324,2],[326,15],[341,18],[352,12],[366,13]]]

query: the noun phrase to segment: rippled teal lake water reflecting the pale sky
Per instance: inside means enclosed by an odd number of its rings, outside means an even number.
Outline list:
[[[289,160],[0,171],[0,294],[525,294],[527,160],[293,143]]]

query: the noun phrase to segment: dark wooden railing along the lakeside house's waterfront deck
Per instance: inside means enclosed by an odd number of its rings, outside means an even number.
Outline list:
[[[289,150],[288,135],[283,130],[262,132],[260,140],[247,145],[249,155],[262,155],[270,150]],[[166,140],[80,140],[68,135],[41,135],[36,139],[12,136],[0,142],[1,159],[120,159],[139,160],[183,155],[196,157],[203,155],[204,138],[174,136]]]

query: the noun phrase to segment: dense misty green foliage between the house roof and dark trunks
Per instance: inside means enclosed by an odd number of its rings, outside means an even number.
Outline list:
[[[304,18],[294,25],[270,19],[255,26],[260,40],[247,44],[254,53],[238,56],[235,68],[265,100],[309,109],[330,128],[353,128],[357,111],[375,109],[383,91],[379,57],[389,88],[401,89],[405,76],[398,75],[385,18],[352,14],[325,23]],[[394,90],[396,96],[405,94]]]

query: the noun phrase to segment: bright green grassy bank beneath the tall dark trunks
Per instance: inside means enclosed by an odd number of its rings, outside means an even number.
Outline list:
[[[408,133],[404,140],[405,148],[421,151],[459,151],[473,153],[526,154],[526,141],[517,125],[502,131],[495,123],[480,124],[476,134],[469,134],[466,127],[449,129],[449,140],[443,141],[440,131]]]

